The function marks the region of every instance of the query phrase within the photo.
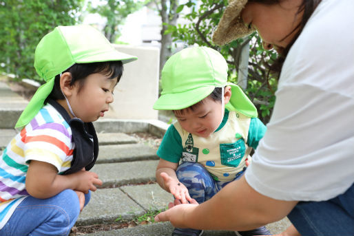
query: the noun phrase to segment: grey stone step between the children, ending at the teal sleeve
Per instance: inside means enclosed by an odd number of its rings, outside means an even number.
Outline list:
[[[116,144],[100,146],[97,163],[158,160],[156,150],[145,144]]]

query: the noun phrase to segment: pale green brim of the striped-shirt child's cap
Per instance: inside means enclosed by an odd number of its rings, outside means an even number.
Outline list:
[[[76,58],[76,63],[95,63],[101,61],[122,61],[123,64],[136,61],[138,58],[123,52],[118,52],[117,50],[112,50],[108,52],[100,52],[92,55],[83,56],[83,58]]]

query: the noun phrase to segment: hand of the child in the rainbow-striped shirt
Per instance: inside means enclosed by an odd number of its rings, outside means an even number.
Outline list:
[[[91,171],[78,171],[72,174],[76,178],[77,186],[74,190],[88,193],[89,190],[96,191],[98,186],[102,185],[102,181],[98,179],[98,175]]]

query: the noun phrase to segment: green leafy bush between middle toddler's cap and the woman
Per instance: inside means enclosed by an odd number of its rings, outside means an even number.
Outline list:
[[[181,17],[185,17],[191,23],[167,25],[165,34],[172,35],[176,43],[175,47],[177,47],[177,43],[183,42],[185,47],[197,44],[218,50],[227,60],[229,65],[228,80],[233,83],[238,83],[238,65],[242,47],[249,45],[249,74],[245,92],[258,108],[261,120],[268,122],[277,86],[276,75],[269,73],[269,67],[277,58],[277,54],[273,50],[266,51],[262,48],[261,39],[256,32],[245,39],[238,39],[222,47],[212,43],[212,34],[216,30],[226,5],[227,0],[201,0],[198,1],[198,6],[196,1],[188,1],[180,5],[178,10],[189,8],[190,13]]]

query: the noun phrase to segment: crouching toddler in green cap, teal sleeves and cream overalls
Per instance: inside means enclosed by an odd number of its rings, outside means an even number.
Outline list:
[[[163,67],[154,109],[173,110],[177,121],[157,151],[156,180],[175,204],[201,204],[238,180],[266,131],[242,89],[227,83],[227,69],[225,58],[209,47],[181,50]],[[264,226],[238,233],[270,235]],[[202,230],[175,228],[172,235],[196,236]]]

